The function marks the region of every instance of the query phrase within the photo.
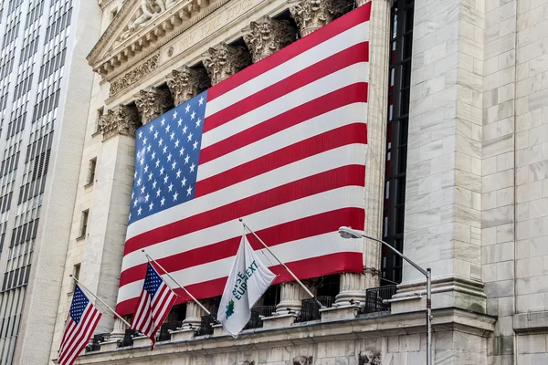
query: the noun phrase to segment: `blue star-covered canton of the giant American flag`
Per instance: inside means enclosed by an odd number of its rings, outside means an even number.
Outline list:
[[[207,91],[135,132],[129,224],[195,196]]]

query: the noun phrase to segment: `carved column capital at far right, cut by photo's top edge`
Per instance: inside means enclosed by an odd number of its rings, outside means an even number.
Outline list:
[[[290,0],[290,13],[299,26],[300,36],[308,36],[314,30],[342,16],[343,0]]]

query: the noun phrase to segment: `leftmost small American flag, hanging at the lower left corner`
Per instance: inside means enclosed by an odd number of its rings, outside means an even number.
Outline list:
[[[60,365],[72,365],[79,353],[86,347],[97,327],[100,312],[93,306],[90,299],[82,292],[79,286],[74,289],[72,304],[68,312],[65,332],[58,352]]]

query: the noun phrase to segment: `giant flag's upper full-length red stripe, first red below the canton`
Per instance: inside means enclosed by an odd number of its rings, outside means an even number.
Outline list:
[[[347,185],[364,186],[364,174],[364,166],[348,165],[328,172],[321,172],[292,183],[286,183],[267,192],[229,203],[213,211],[195,214],[189,218],[169,225],[163,225],[152,231],[133,237],[126,242],[124,254],[315,193]]]

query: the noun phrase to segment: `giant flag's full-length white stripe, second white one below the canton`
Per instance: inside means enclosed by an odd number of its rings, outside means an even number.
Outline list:
[[[354,196],[359,193],[363,196],[362,187],[345,186],[250,214],[246,216],[246,221],[260,232],[271,226],[275,227],[276,224],[287,224],[324,212],[340,211],[344,208],[360,208],[363,211],[362,203],[354,199]],[[205,241],[208,237],[216,237],[217,242],[220,242],[239,235],[241,235],[241,227],[229,221],[160,244],[150,245],[147,247],[147,253],[153,255],[156,259],[162,259],[202,246],[206,247],[207,245],[204,242],[209,242]],[[134,251],[125,257],[126,259],[122,263],[122,276],[132,266],[147,262],[141,251]],[[127,282],[122,280],[121,284],[125,285]]]

